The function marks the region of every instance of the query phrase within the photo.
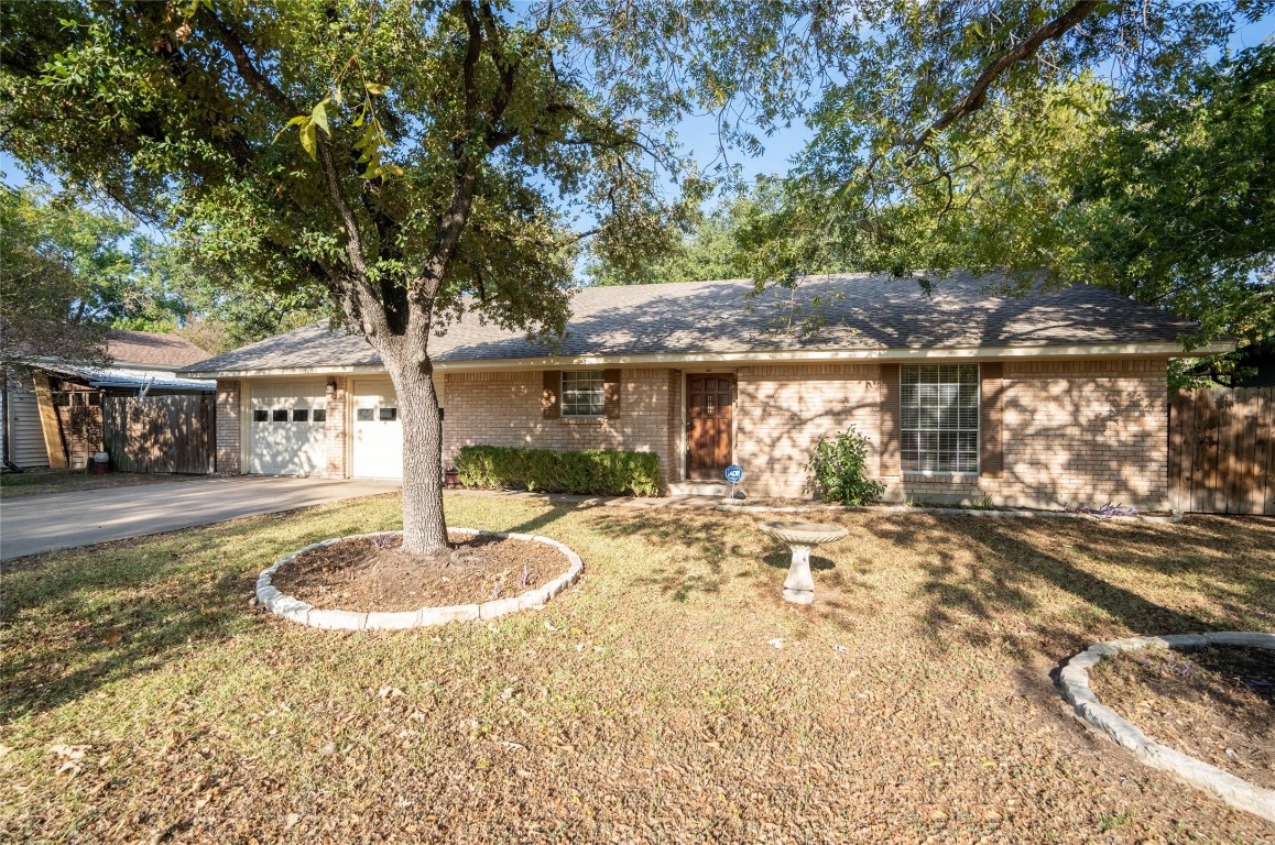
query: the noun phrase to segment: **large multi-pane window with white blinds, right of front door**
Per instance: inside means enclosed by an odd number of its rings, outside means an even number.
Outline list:
[[[905,473],[978,472],[978,365],[899,367]]]

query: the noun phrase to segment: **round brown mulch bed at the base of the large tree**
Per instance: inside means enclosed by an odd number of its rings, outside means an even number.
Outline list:
[[[416,610],[482,604],[536,589],[562,575],[566,557],[544,543],[449,534],[450,553],[402,551],[402,537],[333,543],[280,566],[273,585],[316,608]]]

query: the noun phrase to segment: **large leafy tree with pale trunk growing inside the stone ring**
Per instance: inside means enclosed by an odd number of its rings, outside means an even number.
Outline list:
[[[448,537],[430,339],[552,338],[576,247],[664,242],[677,168],[590,75],[578,22],[488,0],[5,4],[3,145],[207,260],[319,285],[385,363],[404,551]]]

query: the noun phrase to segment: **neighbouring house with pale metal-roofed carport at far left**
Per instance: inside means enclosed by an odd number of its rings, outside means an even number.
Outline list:
[[[33,373],[5,386],[4,460],[23,469],[82,469],[102,447],[103,396],[213,393],[215,382],[176,375],[208,353],[172,334],[112,330],[110,367],[84,367],[42,358]]]

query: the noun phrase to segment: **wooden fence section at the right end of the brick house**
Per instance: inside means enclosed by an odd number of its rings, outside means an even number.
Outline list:
[[[1275,387],[1178,391],[1169,497],[1187,512],[1275,515]]]

